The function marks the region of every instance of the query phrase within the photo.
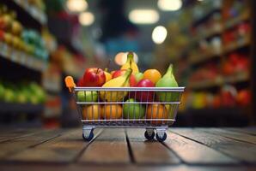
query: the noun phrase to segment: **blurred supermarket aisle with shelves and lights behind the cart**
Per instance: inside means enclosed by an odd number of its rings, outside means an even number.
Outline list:
[[[126,51],[142,71],[174,63],[186,86],[174,127],[255,125],[253,10],[253,0],[0,0],[0,126],[79,126],[64,77],[118,69]]]

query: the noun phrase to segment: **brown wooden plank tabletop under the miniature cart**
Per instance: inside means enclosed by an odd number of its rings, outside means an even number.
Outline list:
[[[256,128],[170,128],[164,143],[144,129],[0,131],[0,170],[256,170]]]

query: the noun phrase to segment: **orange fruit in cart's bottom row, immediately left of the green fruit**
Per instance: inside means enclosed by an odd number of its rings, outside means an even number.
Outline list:
[[[106,120],[122,117],[122,107],[119,104],[106,104],[101,108],[101,118]]]

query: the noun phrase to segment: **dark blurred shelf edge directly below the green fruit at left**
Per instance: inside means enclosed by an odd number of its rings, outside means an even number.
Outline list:
[[[4,103],[0,102],[0,113],[6,112],[24,112],[24,113],[40,113],[44,109],[43,104],[32,103]]]

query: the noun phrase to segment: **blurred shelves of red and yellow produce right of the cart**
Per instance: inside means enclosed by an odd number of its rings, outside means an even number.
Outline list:
[[[188,26],[179,20],[170,21],[172,34],[164,46],[172,52],[162,52],[177,65],[177,80],[188,88],[180,112],[250,107],[249,2],[200,1],[180,11],[180,17],[187,14],[193,18]],[[177,35],[189,38],[185,45],[175,42]],[[177,50],[180,53],[175,53]],[[247,110],[241,112],[247,114]]]

